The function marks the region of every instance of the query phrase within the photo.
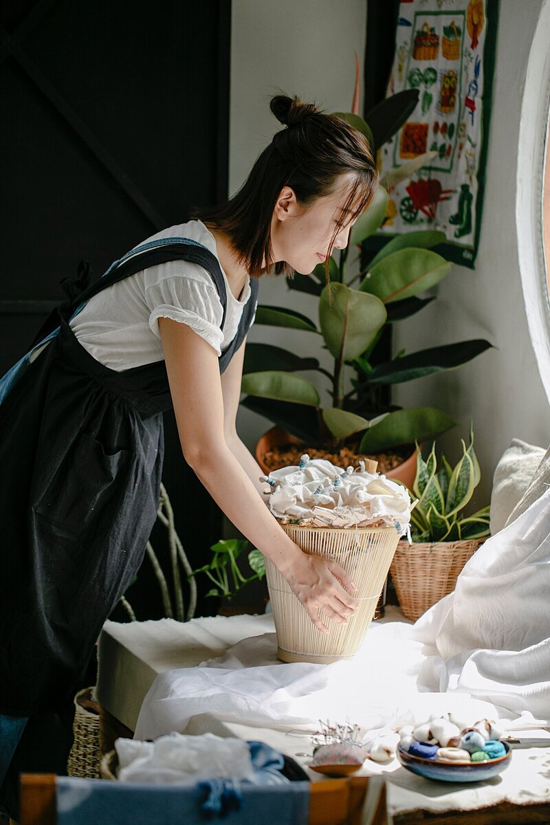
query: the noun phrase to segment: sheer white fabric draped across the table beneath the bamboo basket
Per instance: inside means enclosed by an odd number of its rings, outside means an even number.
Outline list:
[[[331,665],[278,662],[275,634],[244,639],[157,676],[136,735],[185,730],[207,712],[278,727],[349,719],[372,730],[447,712],[468,724],[550,725],[548,592],[550,489],[477,550],[456,590],[416,625],[373,623],[355,659]]]

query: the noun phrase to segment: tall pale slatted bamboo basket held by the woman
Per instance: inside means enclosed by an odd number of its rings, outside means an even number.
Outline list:
[[[320,618],[329,628],[329,633],[323,634],[313,625],[286,579],[266,559],[267,587],[277,633],[277,657],[282,662],[324,664],[352,658],[373,619],[397,548],[397,530],[395,527],[282,527],[304,553],[341,564],[357,587],[353,596],[360,601],[360,606],[346,624],[331,622],[319,611]]]

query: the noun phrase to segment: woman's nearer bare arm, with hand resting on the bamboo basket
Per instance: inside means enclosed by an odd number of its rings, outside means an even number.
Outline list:
[[[313,624],[317,610],[345,621],[357,601],[339,564],[304,554],[284,533],[225,440],[223,393],[213,347],[185,323],[158,322],[181,448],[186,461],[230,521],[287,579]],[[342,587],[342,585],[344,587]]]

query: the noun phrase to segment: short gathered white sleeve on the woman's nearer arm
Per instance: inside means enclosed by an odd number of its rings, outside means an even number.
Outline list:
[[[223,307],[209,273],[195,263],[169,261],[145,270],[149,328],[157,336],[158,318],[186,323],[221,354]]]

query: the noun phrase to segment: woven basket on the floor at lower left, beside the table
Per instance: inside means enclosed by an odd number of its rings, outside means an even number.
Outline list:
[[[92,687],[85,687],[74,697],[74,742],[67,773],[82,779],[98,779],[100,775],[99,705],[92,699],[92,692]]]

